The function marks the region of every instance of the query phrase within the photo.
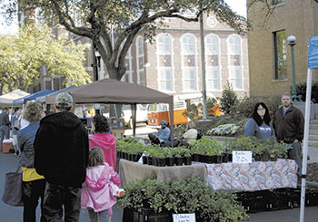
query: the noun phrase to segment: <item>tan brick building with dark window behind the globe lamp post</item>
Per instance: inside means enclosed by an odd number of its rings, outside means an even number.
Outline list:
[[[248,9],[253,30],[248,33],[250,94],[279,96],[292,86],[291,48],[287,37],[294,35],[295,80],[306,82],[308,39],[318,34],[318,4],[312,0],[271,0],[271,14],[263,4]],[[313,82],[318,81],[313,71]]]

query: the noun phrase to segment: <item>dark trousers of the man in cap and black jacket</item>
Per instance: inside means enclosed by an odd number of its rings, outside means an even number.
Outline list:
[[[47,221],[79,221],[81,210],[81,188],[46,183],[44,214]]]

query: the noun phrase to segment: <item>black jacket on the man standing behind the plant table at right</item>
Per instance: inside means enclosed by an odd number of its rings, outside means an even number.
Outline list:
[[[285,116],[283,116],[283,107],[273,116],[273,129],[278,141],[285,143],[293,143],[295,139],[302,141],[303,128],[303,113],[294,106],[286,112]]]

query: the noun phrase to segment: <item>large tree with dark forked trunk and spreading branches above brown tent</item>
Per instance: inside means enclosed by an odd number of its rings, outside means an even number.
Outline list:
[[[3,10],[10,19],[17,0],[8,1]],[[153,36],[164,18],[196,22],[206,12],[237,31],[247,27],[245,18],[235,14],[224,0],[19,0],[19,8],[39,8],[50,24],[62,24],[67,31],[92,39],[110,78],[117,80],[124,75],[124,57],[134,36],[140,31],[145,37]],[[114,46],[111,27],[115,30]]]

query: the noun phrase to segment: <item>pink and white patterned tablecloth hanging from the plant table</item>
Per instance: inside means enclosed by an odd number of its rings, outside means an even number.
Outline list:
[[[270,188],[297,188],[297,164],[292,159],[253,163],[204,164],[213,189],[255,191]]]

